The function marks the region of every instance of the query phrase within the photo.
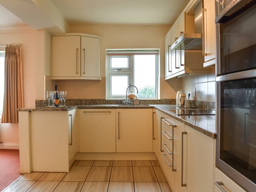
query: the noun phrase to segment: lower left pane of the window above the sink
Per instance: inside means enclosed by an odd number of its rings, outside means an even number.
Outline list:
[[[126,95],[128,76],[111,76],[111,95]]]

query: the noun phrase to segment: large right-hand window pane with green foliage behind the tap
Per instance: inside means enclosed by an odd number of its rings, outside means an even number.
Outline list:
[[[134,85],[138,97],[156,97],[156,55],[134,55]]]

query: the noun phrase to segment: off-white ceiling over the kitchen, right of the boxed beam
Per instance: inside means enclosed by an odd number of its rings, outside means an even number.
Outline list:
[[[173,24],[189,0],[51,0],[70,25]]]

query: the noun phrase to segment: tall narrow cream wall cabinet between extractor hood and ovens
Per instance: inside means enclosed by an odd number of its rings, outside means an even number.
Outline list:
[[[203,0],[203,56],[204,67],[214,66],[216,57],[215,6],[212,0]]]

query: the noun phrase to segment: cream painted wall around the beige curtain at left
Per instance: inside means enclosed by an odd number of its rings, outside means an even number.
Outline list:
[[[35,108],[37,94],[41,95],[38,96],[40,99],[44,96],[44,65],[47,62],[50,65],[50,59],[48,58],[48,61],[45,60],[44,49],[44,44],[47,44],[47,49],[49,49],[50,42],[46,40],[46,43],[44,39],[50,40],[50,34],[48,32],[44,30],[36,31],[29,26],[0,28],[0,45],[22,44],[22,75],[25,108]],[[48,55],[50,55],[50,50]],[[18,144],[18,124],[1,124],[1,141],[5,144]]]

